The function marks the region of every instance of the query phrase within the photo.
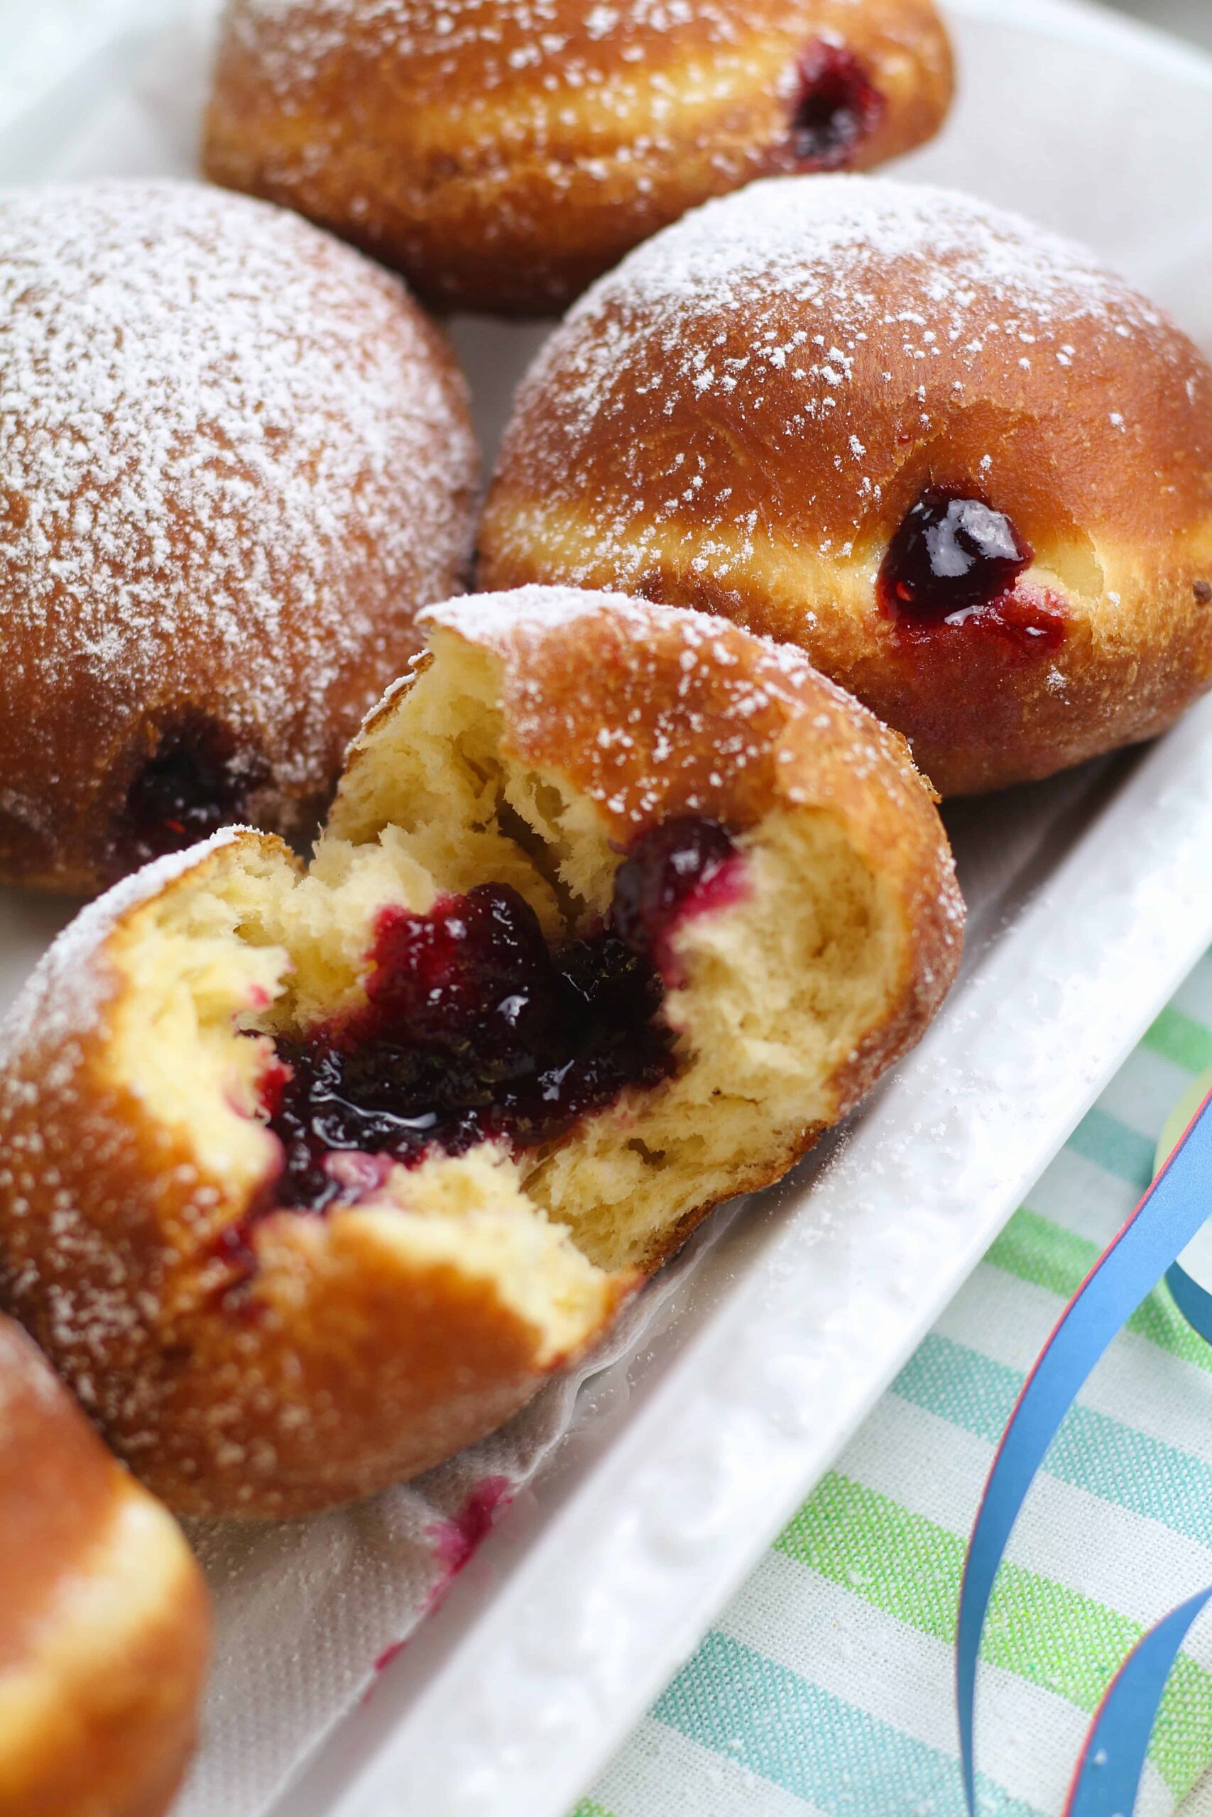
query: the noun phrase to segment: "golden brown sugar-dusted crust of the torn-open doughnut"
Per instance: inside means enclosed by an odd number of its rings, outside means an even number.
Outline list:
[[[438,612],[500,658],[509,750],[592,796],[620,843],[678,812],[752,827],[780,807],[823,807],[892,892],[907,928],[901,979],[885,1023],[845,1063],[849,1108],[919,1038],[959,958],[950,854],[903,741],[798,650],[634,601],[576,607],[565,600],[552,616],[522,596]],[[629,741],[603,743],[609,725]],[[351,776],[367,761],[362,740]],[[331,830],[373,838],[349,814],[342,794]],[[185,861],[189,878],[236,841],[274,845],[220,836]],[[234,1197],[114,1085],[111,1027],[131,988],[122,947],[140,905],[182,876],[180,859],[153,867],[85,910],[24,999],[0,1072],[7,1294],[173,1506],[305,1514],[483,1435],[569,1359],[540,1354],[541,1334],[489,1279],[400,1257],[391,1208],[249,1221],[263,1194]],[[738,1157],[736,1190],[778,1177],[816,1134],[787,1154]],[[611,1279],[603,1325],[634,1285]]]

